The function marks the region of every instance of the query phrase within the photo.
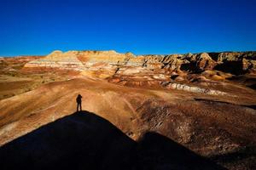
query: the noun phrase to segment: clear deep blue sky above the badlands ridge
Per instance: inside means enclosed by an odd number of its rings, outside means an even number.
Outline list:
[[[0,56],[256,50],[256,0],[0,0]]]

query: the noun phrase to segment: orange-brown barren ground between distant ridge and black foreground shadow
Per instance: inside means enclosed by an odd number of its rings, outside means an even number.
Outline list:
[[[0,75],[0,145],[72,115],[81,94],[83,111],[108,120],[135,141],[145,133],[159,133],[228,169],[256,168],[256,77],[208,85],[226,93],[208,95],[134,86],[142,82],[135,77],[126,78],[133,83],[124,86],[63,72],[13,72]]]

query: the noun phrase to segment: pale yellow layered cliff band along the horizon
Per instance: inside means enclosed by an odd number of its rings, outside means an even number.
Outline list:
[[[110,51],[54,51],[43,59],[32,60],[26,68],[50,67],[86,71],[99,69],[116,69],[118,66],[135,66],[165,71],[207,71],[219,70],[233,74],[256,71],[256,52],[245,53],[201,53],[170,55],[119,54]]]

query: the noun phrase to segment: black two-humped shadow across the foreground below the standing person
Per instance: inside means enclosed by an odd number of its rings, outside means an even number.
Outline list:
[[[136,142],[87,111],[0,148],[0,169],[223,169],[159,133]]]

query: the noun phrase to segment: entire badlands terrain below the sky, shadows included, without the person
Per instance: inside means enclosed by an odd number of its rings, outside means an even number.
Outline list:
[[[0,169],[256,169],[255,89],[256,52],[2,57]]]

